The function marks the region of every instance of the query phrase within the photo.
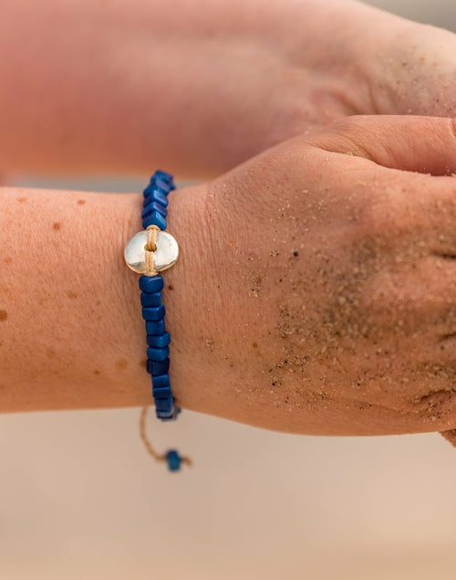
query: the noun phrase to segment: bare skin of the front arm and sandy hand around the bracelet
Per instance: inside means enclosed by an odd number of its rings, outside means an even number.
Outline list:
[[[353,117],[172,192],[179,404],[297,433],[455,428],[455,160],[449,119]],[[122,264],[140,196],[1,195],[1,410],[146,404]]]

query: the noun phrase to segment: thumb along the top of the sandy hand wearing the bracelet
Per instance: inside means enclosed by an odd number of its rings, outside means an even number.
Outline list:
[[[354,116],[307,138],[316,147],[368,159],[384,167],[456,173],[456,128],[451,119],[399,115]]]

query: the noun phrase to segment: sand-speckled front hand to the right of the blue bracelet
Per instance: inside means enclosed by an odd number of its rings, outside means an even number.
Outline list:
[[[456,427],[454,171],[451,120],[353,117],[199,190],[211,252],[186,246],[167,295],[179,402],[298,433]]]

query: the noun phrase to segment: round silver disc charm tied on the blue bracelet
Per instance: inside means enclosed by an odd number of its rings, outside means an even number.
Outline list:
[[[133,236],[125,246],[124,257],[127,266],[138,274],[147,274],[146,271],[146,250],[148,233],[142,230]],[[179,258],[179,246],[174,237],[168,232],[157,232],[157,249],[153,252],[153,265],[156,272],[169,269]]]

